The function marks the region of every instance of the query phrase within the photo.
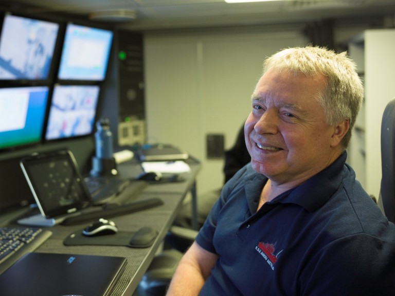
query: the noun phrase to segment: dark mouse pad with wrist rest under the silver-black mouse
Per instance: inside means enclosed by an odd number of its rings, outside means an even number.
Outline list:
[[[65,246],[126,246],[130,248],[151,247],[158,232],[150,227],[140,228],[136,232],[118,231],[115,234],[85,236],[82,230],[71,233],[63,244]]]

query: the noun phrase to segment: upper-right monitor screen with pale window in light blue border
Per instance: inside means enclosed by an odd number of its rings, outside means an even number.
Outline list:
[[[67,24],[58,79],[102,81],[112,39],[112,31]]]

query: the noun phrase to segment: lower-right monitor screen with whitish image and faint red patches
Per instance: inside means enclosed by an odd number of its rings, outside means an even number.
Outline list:
[[[98,85],[55,85],[45,139],[92,134],[98,98]]]

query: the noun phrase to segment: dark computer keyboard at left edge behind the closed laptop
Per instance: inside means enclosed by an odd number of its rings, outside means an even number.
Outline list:
[[[52,232],[33,227],[0,227],[0,274],[43,244]]]

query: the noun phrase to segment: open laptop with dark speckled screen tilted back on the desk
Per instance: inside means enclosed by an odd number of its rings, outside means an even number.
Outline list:
[[[19,219],[22,225],[53,226],[82,210],[99,210],[92,206],[109,202],[130,184],[126,179],[113,179],[118,180],[118,184],[113,182],[111,188],[112,183],[108,182],[107,189],[112,192],[102,189],[92,196],[73,153],[67,149],[31,154],[22,158],[20,165],[40,210],[40,214]]]

